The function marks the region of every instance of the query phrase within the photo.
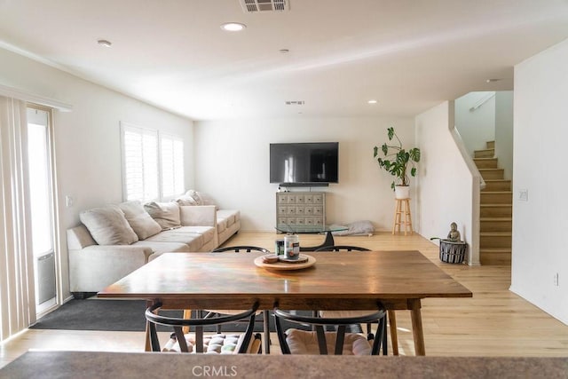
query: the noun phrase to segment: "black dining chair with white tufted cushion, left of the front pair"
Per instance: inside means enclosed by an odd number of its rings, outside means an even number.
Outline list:
[[[196,353],[260,353],[262,347],[262,337],[257,334],[253,336],[256,310],[258,302],[253,304],[247,311],[217,317],[182,319],[169,317],[160,314],[162,303],[156,303],[148,307],[145,312],[148,321],[150,343],[152,351],[177,351],[177,352],[196,352]],[[204,328],[213,327],[229,322],[247,320],[248,326],[242,335],[215,334],[204,335]],[[163,325],[173,328],[170,340],[165,343],[163,349],[160,347],[156,325]],[[193,333],[184,333],[183,329],[190,327]]]

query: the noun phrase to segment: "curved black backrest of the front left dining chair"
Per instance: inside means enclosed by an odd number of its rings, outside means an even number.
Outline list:
[[[255,325],[256,310],[258,309],[258,302],[252,305],[247,311],[229,314],[229,315],[217,315],[217,317],[207,317],[207,318],[192,318],[192,319],[179,319],[175,317],[167,317],[159,314],[162,308],[162,303],[156,303],[146,309],[145,315],[146,320],[148,320],[148,327],[150,332],[150,343],[152,346],[152,351],[161,351],[160,342],[158,340],[158,335],[156,332],[156,325],[164,325],[167,327],[172,327],[174,329],[174,335],[179,343],[179,350],[182,352],[188,352],[187,343],[185,342],[185,335],[183,332],[184,327],[193,327],[195,330],[195,352],[203,352],[203,328],[208,326],[217,326],[220,324],[226,324],[230,322],[236,322],[240,320],[247,320],[247,329],[243,336],[241,336],[241,343],[238,353],[244,353],[248,351],[248,346],[250,344],[253,329]]]

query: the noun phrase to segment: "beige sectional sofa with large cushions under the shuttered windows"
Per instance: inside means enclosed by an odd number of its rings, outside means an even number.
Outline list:
[[[89,209],[67,230],[70,289],[98,292],[164,252],[211,251],[241,228],[239,210],[183,201],[138,201]]]

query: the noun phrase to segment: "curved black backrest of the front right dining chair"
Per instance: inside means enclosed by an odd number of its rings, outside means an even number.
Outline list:
[[[376,336],[370,351],[371,355],[378,355],[379,351],[381,350],[381,344],[383,342],[383,337],[384,337],[384,329],[386,322],[385,314],[386,312],[384,311],[382,304],[377,304],[377,312],[372,312],[357,317],[345,317],[345,318],[324,318],[324,317],[303,316],[303,315],[281,311],[280,309],[278,309],[277,306],[274,308],[274,324],[276,326],[276,333],[278,335],[280,350],[282,351],[282,354],[292,353],[288,345],[286,331],[283,330],[280,322],[280,320],[288,320],[296,324],[310,325],[312,326],[312,328],[315,328],[315,336],[317,337],[319,354],[321,355],[327,355],[327,336],[329,335],[329,333],[326,332],[326,328],[335,327],[335,332],[334,332],[335,346],[333,354],[341,355],[343,353],[343,343],[345,341],[345,337],[352,335],[351,333],[348,335],[345,334],[347,327],[350,327],[351,325],[354,324],[378,322]],[[304,334],[313,334],[312,332],[307,332],[307,331],[296,331],[296,330],[294,331]],[[367,349],[368,349],[368,343],[367,343]]]

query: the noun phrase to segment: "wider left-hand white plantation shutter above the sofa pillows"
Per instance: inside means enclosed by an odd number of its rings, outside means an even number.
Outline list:
[[[122,123],[122,180],[125,200],[159,197],[158,132]]]

